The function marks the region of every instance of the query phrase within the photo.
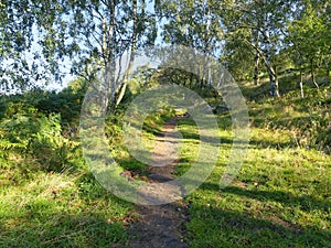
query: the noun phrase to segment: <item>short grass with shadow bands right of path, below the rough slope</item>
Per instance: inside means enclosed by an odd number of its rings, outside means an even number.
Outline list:
[[[330,157],[305,149],[252,147],[224,190],[225,161],[186,201],[190,247],[328,247]]]

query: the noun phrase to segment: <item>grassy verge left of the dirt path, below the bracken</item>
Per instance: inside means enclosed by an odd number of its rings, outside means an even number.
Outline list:
[[[172,115],[148,117],[147,145],[152,145],[153,133]],[[113,157],[125,170],[143,175],[146,165],[130,157],[121,143],[120,120],[111,118],[106,133],[111,137]],[[126,242],[125,228],[135,218],[134,205],[103,188],[84,162],[54,172],[33,170],[36,162],[12,155],[14,161],[0,164],[0,247],[106,248]]]

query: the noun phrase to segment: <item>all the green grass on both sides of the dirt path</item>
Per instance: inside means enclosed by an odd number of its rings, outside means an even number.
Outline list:
[[[233,131],[229,114],[220,114],[217,163],[201,187],[184,200],[190,206],[186,242],[194,248],[330,247],[330,86],[306,88],[305,99],[298,90],[279,99],[257,98],[255,88],[242,87],[252,99],[247,103],[250,144],[246,160],[232,184],[221,190]],[[172,116],[172,111],[156,112],[145,120],[148,148]],[[183,141],[177,174],[181,175],[196,159],[200,136],[190,118],[179,121],[179,130]],[[108,117],[106,133],[122,168],[143,175],[146,165],[121,143],[120,119]],[[126,244],[126,226],[136,218],[134,205],[104,190],[84,162],[76,169],[47,171],[34,169],[40,161],[10,155],[10,166],[0,166],[0,247]]]

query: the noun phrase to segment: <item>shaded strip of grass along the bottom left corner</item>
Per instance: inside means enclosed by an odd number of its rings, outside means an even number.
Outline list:
[[[31,206],[33,207],[33,206]],[[106,209],[105,209],[106,212]],[[104,214],[84,212],[26,212],[29,222],[1,225],[0,247],[109,247],[127,237],[120,222],[108,222]]]

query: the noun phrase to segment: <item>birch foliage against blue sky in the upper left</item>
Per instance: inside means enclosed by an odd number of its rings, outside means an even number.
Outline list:
[[[145,1],[14,0],[0,8],[0,86],[8,91],[60,83],[64,68],[92,80],[157,35]]]

